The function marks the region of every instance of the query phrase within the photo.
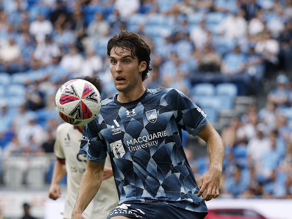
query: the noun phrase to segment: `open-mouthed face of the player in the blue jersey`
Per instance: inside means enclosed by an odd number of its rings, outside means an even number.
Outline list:
[[[138,58],[132,58],[131,51],[121,47],[112,48],[109,60],[114,86],[119,92],[129,92],[142,85],[141,75],[146,62],[138,63]]]

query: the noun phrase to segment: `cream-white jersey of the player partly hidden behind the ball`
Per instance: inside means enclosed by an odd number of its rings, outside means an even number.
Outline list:
[[[64,218],[71,218],[71,213],[77,199],[79,185],[86,170],[87,158],[79,154],[82,133],[73,125],[63,123],[58,126],[54,152],[56,157],[65,159],[67,171],[67,193],[65,197]],[[111,166],[109,156],[105,166]],[[109,211],[119,202],[114,177],[103,180],[97,195],[83,212],[86,219],[104,219]]]

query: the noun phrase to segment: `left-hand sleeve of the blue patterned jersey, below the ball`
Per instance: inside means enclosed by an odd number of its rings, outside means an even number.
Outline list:
[[[79,153],[85,154],[90,161],[103,163],[107,157],[107,149],[104,140],[99,136],[94,122],[94,120],[91,121],[83,128]]]

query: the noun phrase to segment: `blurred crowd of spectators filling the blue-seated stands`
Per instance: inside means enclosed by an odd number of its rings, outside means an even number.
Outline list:
[[[291,73],[291,18],[291,0],[0,1],[0,165],[15,152],[53,152],[55,93],[68,79],[98,76],[102,98],[115,94],[106,47],[122,29],[152,49],[145,87],[191,95],[201,82],[231,82],[249,95]],[[223,129],[222,194],[291,198],[291,96],[283,74],[263,109],[251,105]],[[192,163],[196,174],[208,168]]]

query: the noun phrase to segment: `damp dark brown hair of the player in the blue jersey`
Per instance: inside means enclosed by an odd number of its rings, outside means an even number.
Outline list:
[[[146,69],[142,72],[142,81],[145,81],[148,78],[148,72],[152,70],[150,66],[150,53],[151,49],[148,44],[141,38],[141,36],[137,33],[122,30],[119,34],[115,34],[109,39],[107,43],[107,56],[110,56],[110,52],[112,48],[114,48],[114,52],[117,55],[116,47],[121,47],[125,50],[131,51],[131,56],[134,59],[138,58],[138,63],[142,61],[146,62]]]

